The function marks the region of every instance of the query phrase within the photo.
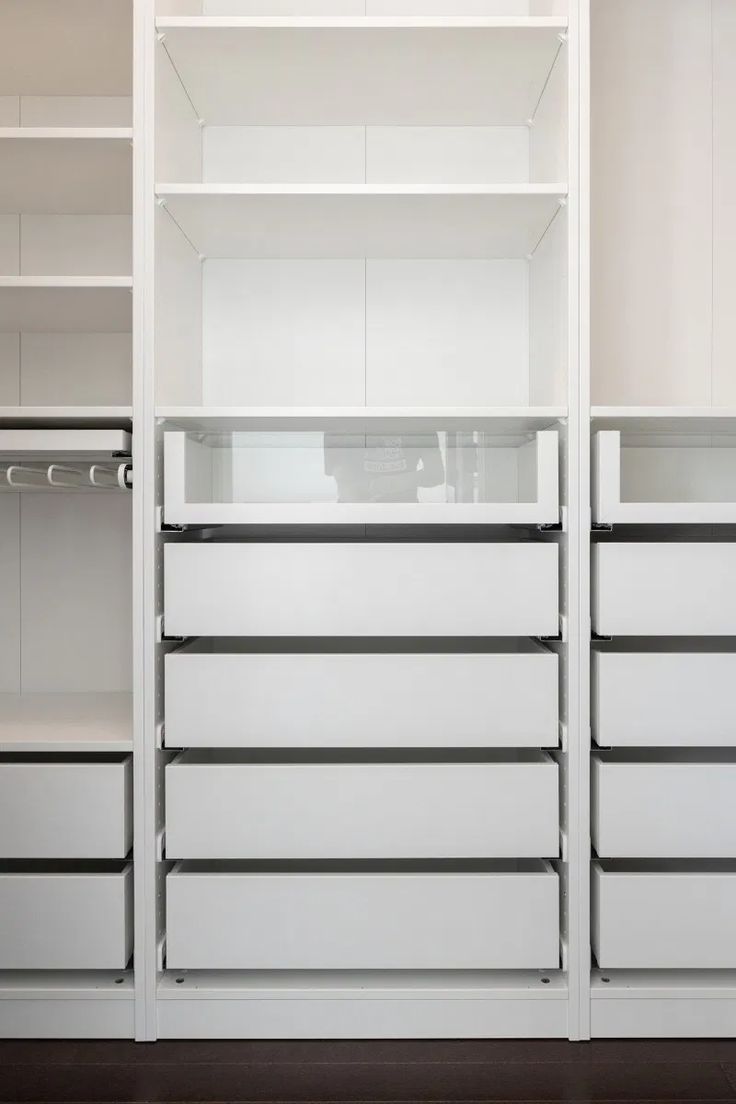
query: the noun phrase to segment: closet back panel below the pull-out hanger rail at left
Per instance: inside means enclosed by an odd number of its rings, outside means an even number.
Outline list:
[[[4,495],[0,511],[2,690],[129,690],[129,496]]]

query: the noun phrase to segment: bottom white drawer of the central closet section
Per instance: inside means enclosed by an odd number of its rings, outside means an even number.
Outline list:
[[[483,873],[248,873],[179,863],[167,879],[173,969],[554,969],[547,863]]]

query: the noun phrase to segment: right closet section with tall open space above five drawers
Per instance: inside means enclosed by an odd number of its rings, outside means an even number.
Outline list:
[[[733,1037],[736,19],[590,7],[591,1034]]]

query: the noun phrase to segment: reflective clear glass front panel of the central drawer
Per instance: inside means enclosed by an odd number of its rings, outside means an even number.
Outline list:
[[[529,440],[472,429],[192,435],[186,482],[196,500],[206,471],[213,502],[534,501]]]

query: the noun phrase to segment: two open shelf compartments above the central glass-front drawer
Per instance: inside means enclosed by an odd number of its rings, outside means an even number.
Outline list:
[[[392,14],[158,20],[161,415],[566,412],[566,20]]]

